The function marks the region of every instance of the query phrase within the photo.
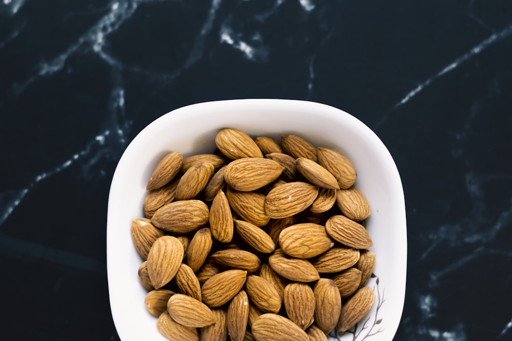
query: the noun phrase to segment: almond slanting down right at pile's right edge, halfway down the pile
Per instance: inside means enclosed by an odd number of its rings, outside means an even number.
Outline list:
[[[364,226],[342,215],[327,219],[325,230],[332,239],[350,247],[368,248],[373,245]]]

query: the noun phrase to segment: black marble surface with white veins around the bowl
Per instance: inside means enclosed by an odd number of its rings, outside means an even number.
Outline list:
[[[288,98],[351,113],[395,159],[395,339],[512,339],[511,60],[505,0],[3,0],[2,338],[118,339],[105,225],[124,148],[187,104]]]

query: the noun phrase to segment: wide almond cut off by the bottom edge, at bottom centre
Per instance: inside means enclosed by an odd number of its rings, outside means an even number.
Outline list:
[[[252,335],[257,341],[309,341],[304,330],[286,317],[265,313],[251,327]]]

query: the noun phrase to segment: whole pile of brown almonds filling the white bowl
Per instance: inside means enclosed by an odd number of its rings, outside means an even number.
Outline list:
[[[166,154],[132,239],[145,306],[180,340],[327,340],[370,310],[371,214],[339,152],[220,130],[211,154]]]

